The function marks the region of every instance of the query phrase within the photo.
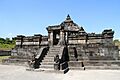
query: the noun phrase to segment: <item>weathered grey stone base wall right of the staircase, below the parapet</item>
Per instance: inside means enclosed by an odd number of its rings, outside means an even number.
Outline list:
[[[118,49],[115,46],[103,46],[96,44],[69,45],[68,54],[71,60],[117,60]]]

